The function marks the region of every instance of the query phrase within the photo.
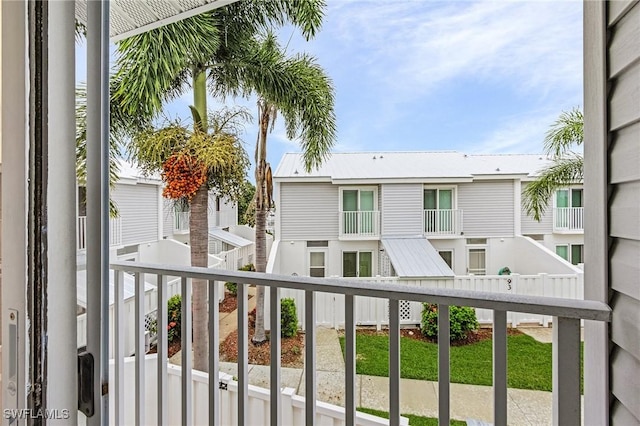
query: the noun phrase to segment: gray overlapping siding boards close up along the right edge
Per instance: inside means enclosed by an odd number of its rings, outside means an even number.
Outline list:
[[[607,8],[611,423],[640,424],[640,3]]]

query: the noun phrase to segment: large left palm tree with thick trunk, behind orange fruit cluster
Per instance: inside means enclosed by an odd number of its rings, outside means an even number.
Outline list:
[[[206,131],[207,89],[246,95],[261,93],[265,84],[279,84],[270,88],[277,91],[288,83],[277,78],[279,64],[259,68],[259,52],[251,50],[258,46],[257,35],[272,26],[291,24],[308,39],[320,26],[324,7],[324,0],[239,1],[123,40],[117,44],[112,105],[144,129],[166,102],[193,90],[194,125]],[[203,185],[191,199],[193,266],[207,266],[206,195]],[[207,371],[207,321],[200,317],[206,312],[205,282],[193,281],[192,306],[194,368]]]

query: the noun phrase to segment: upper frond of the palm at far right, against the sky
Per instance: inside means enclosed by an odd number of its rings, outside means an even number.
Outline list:
[[[553,123],[544,139],[545,152],[561,157],[573,145],[581,145],[584,140],[584,117],[579,108],[563,111]]]

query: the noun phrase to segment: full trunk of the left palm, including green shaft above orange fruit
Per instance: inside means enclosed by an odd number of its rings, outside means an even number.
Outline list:
[[[200,114],[200,129],[207,129],[206,104],[206,75],[204,72],[194,72],[193,97],[195,107]],[[207,184],[203,184],[191,199],[191,216],[189,217],[189,239],[191,244],[191,265],[209,266],[209,223],[207,217],[209,193]],[[209,332],[207,310],[207,281],[193,280],[192,309],[193,309],[193,368],[209,371]],[[217,303],[211,300],[211,303]],[[215,305],[214,305],[215,306]],[[182,354],[189,356],[189,354]]]

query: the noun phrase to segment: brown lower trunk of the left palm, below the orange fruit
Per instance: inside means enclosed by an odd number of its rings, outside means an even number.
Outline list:
[[[191,242],[191,265],[208,267],[209,230],[207,217],[207,185],[202,185],[191,199],[189,233]],[[192,280],[193,309],[193,368],[209,371],[209,332],[207,310],[207,281]],[[211,300],[211,303],[216,301]],[[183,315],[185,315],[183,313]],[[186,337],[185,337],[186,338]],[[189,354],[182,354],[189,356]]]

